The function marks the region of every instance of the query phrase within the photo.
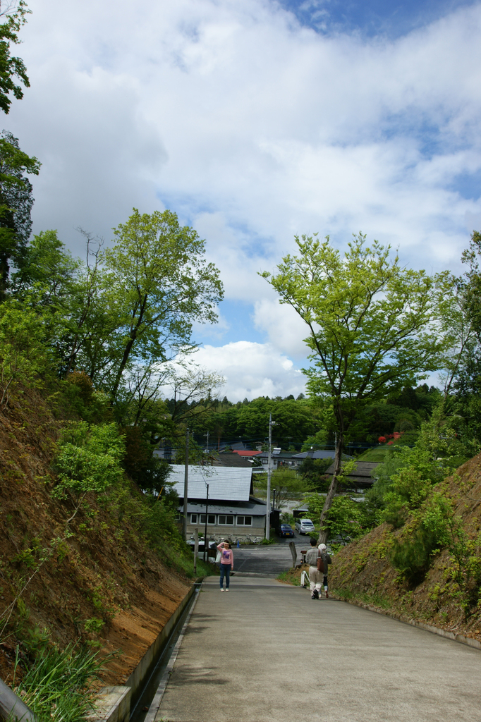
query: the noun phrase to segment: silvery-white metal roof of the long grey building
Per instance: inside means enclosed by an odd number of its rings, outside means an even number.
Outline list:
[[[174,489],[183,499],[183,481],[186,467],[172,464],[168,477],[174,482]],[[229,468],[225,466],[188,466],[188,497],[206,499],[209,484],[209,499],[225,501],[248,501],[251,491],[252,469]]]

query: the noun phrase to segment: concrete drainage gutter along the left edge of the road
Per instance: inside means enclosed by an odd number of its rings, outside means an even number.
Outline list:
[[[168,622],[162,628],[152,645],[137,664],[134,671],[126,680],[125,685],[116,687],[103,687],[97,692],[95,710],[89,715],[90,722],[129,722],[131,706],[142,693],[146,682],[157,664],[162,651],[168,643],[178,620],[181,618],[186,606],[196,591],[195,584],[186,593],[181,604],[178,605]],[[35,718],[28,722],[36,722]]]

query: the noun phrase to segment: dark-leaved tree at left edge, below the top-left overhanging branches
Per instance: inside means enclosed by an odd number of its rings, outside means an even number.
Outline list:
[[[21,263],[32,227],[32,185],[25,173],[38,175],[39,170],[40,162],[22,152],[17,138],[3,131],[0,137],[0,299],[6,290],[9,259]]]

